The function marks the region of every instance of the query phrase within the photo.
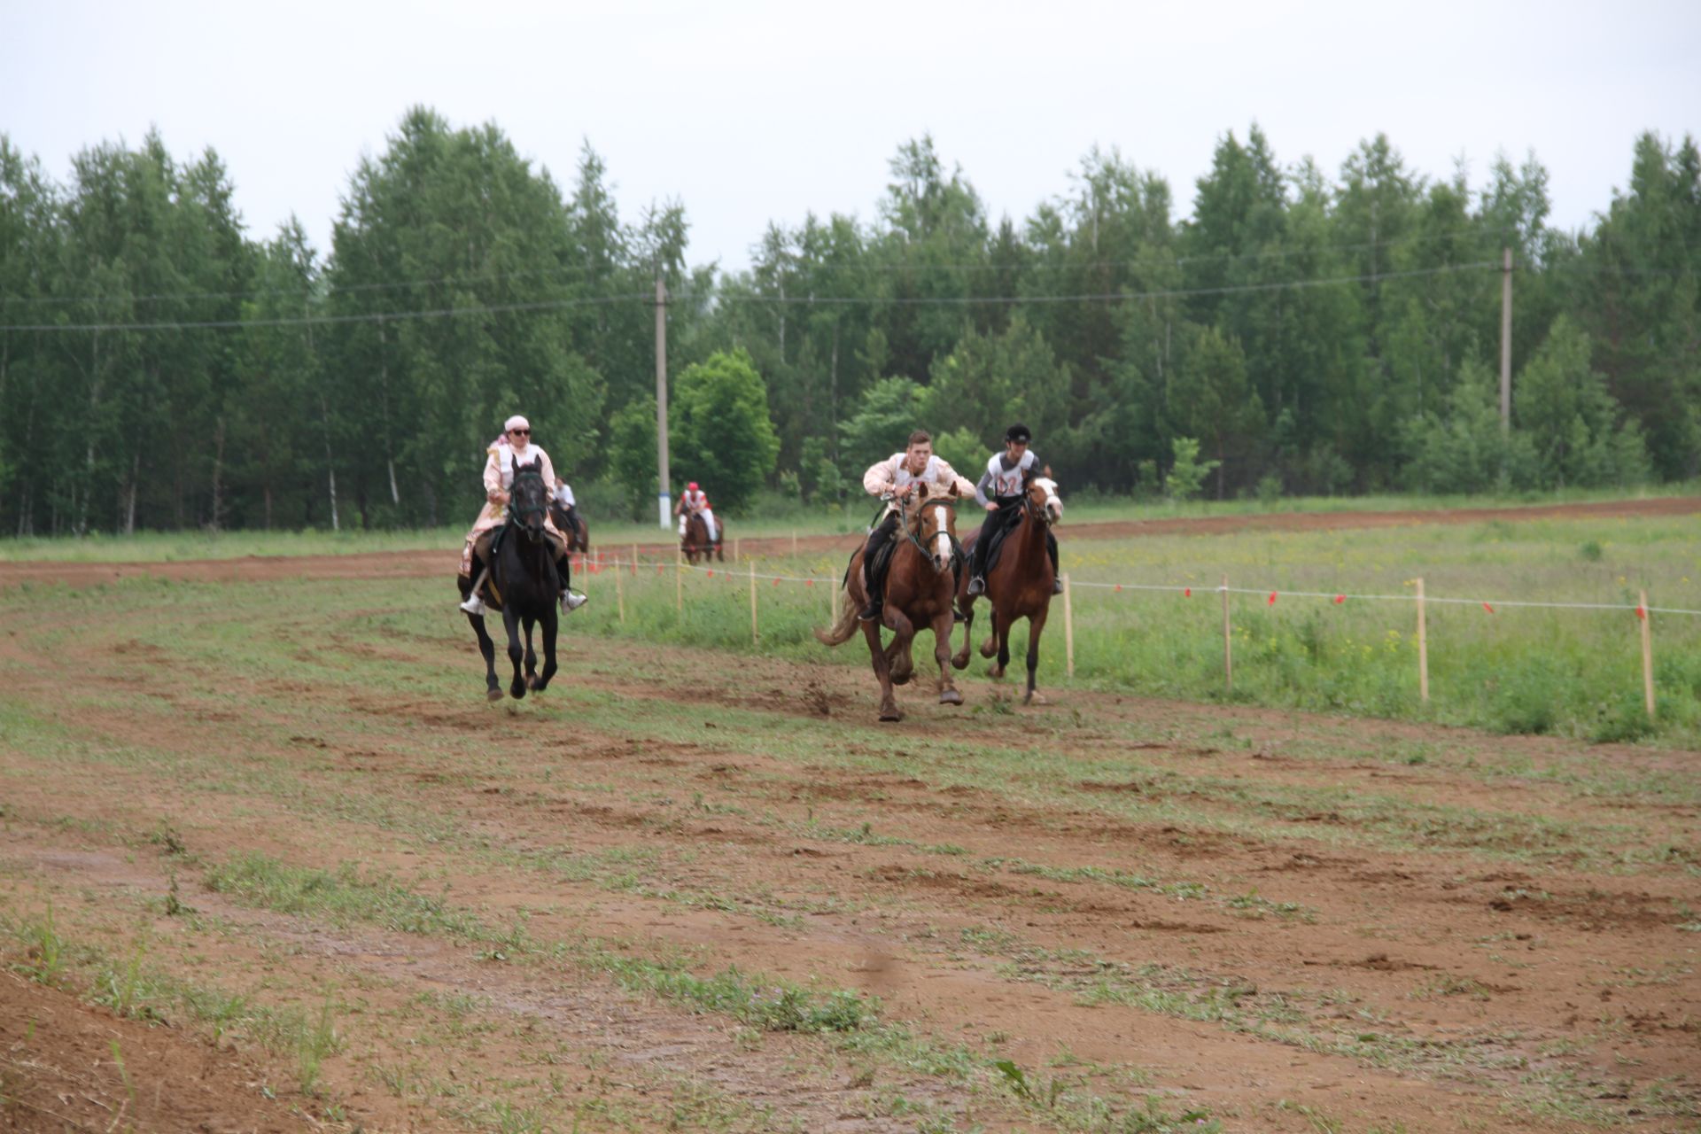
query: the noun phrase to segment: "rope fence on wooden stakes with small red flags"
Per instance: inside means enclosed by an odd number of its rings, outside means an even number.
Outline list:
[[[796,554],[796,534],[793,534],[793,554]],[[740,561],[738,544],[733,541],[731,561],[737,564]],[[606,556],[602,551],[594,553],[575,553],[573,556],[573,573],[575,578],[583,578],[585,575],[597,576],[602,573],[614,575],[614,593],[616,593],[616,612],[621,624],[626,622],[626,592],[624,578],[628,575],[638,575],[640,571],[655,570],[657,575],[665,575],[668,568],[674,571],[674,605],[675,612],[684,615],[686,592],[684,576],[687,573],[703,575],[706,578],[714,578],[716,573],[725,580],[731,581],[735,576],[748,581],[750,592],[750,641],[755,646],[762,643],[760,632],[760,588],[757,581],[765,581],[771,587],[779,587],[781,583],[801,583],[803,587],[822,585],[828,590],[828,609],[830,619],[837,622],[839,619],[839,576],[835,575],[779,575],[769,571],[757,571],[755,559],[743,563],[743,570],[731,570],[726,563],[720,564],[694,564],[687,563],[684,553],[675,553],[672,561],[651,558],[645,559],[638,553],[638,546],[631,546],[629,558],[621,558],[619,554]],[[1322,592],[1322,590],[1283,590],[1279,587],[1232,587],[1228,576],[1223,576],[1218,587],[1191,587],[1175,583],[1099,583],[1070,578],[1068,571],[1061,575],[1063,593],[1060,595],[1063,604],[1063,653],[1065,653],[1065,672],[1068,677],[1075,677],[1075,610],[1073,610],[1073,593],[1075,588],[1087,587],[1092,590],[1104,590],[1111,593],[1121,592],[1150,592],[1150,593],[1169,593],[1179,595],[1182,598],[1192,598],[1194,592],[1199,597],[1220,595],[1223,604],[1223,685],[1226,690],[1233,692],[1235,672],[1233,672],[1233,626],[1230,617],[1230,597],[1232,595],[1250,595],[1264,600],[1264,607],[1274,607],[1281,598],[1310,598],[1323,600],[1330,605],[1340,607],[1347,602],[1400,602],[1412,604],[1415,607],[1414,614],[1417,619],[1417,666],[1419,666],[1419,699],[1429,700],[1429,605],[1459,605],[1459,607],[1482,607],[1487,614],[1495,614],[1500,609],[1526,609],[1526,610],[1609,610],[1609,612],[1628,612],[1636,615],[1636,634],[1641,655],[1641,683],[1643,683],[1643,707],[1648,712],[1648,719],[1655,717],[1655,695],[1653,695],[1653,619],[1655,614],[1669,614],[1679,617],[1701,617],[1701,610],[1687,607],[1652,607],[1648,605],[1648,592],[1643,590],[1638,595],[1636,604],[1616,604],[1616,602],[1555,602],[1555,600],[1538,600],[1538,598],[1459,598],[1446,595],[1429,595],[1424,590],[1424,580],[1412,580],[1414,593],[1410,595],[1378,595],[1378,593],[1357,593],[1357,592]]]

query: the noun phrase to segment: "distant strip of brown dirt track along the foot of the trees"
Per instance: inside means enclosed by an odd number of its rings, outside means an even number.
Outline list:
[[[1524,508],[1436,508],[1410,512],[1279,512],[1174,520],[1118,520],[1070,524],[1067,539],[1128,539],[1136,536],[1221,536],[1238,530],[1335,530],[1364,527],[1408,527],[1422,524],[1483,524],[1488,520],[1541,520],[1618,515],[1701,515],[1701,496],[1653,500],[1604,500],[1597,503],[1555,503]],[[750,554],[786,554],[788,537],[745,539]],[[850,536],[810,536],[799,551],[840,551],[856,546]],[[624,551],[629,544],[619,544]],[[640,554],[670,556],[675,544],[638,544]],[[0,563],[0,588],[19,583],[65,583],[92,587],[148,575],[191,581],[235,580],[330,580],[330,578],[427,578],[452,573],[459,547],[444,551],[390,551],[349,556],[248,556],[243,559],[191,559],[184,563]]]

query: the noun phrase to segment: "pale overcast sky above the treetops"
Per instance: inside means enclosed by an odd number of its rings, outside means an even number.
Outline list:
[[[621,214],[684,201],[689,260],[748,264],[769,221],[874,216],[886,162],[930,133],[993,219],[1070,187],[1094,145],[1169,179],[1180,216],[1225,131],[1330,173],[1386,133],[1482,184],[1499,151],[1551,173],[1580,228],[1638,131],[1701,133],[1701,2],[1579,3],[133,3],[0,0],[0,131],[56,179],[158,126],[213,146],[250,235],[313,241],[412,104],[495,121],[563,189],[589,141]],[[1177,219],[1180,219],[1177,216]]]

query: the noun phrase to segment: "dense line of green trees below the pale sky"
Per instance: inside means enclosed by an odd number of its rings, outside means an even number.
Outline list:
[[[158,133],[51,179],[0,134],[0,532],[469,520],[524,411],[590,507],[650,515],[655,294],[672,471],[721,507],[832,503],[917,427],[973,468],[1010,420],[1072,488],[1216,496],[1631,485],[1701,473],[1701,153],[1635,139],[1582,231],[1500,158],[1337,175],[1225,134],[1191,216],[1116,151],[993,219],[932,139],[869,219],[687,265],[684,204],[616,207],[495,124],[408,111],[330,248],[252,236]],[[1516,264],[1510,430],[1500,257]],[[677,490],[677,485],[675,485]]]

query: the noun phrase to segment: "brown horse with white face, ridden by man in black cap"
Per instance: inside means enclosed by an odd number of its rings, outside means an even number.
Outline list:
[[[1046,553],[1046,537],[1051,525],[1063,519],[1063,502],[1058,500],[1058,486],[1050,476],[1029,478],[1022,486],[1022,515],[1015,529],[1004,537],[998,551],[998,563],[987,570],[987,602],[992,604],[992,629],[980,646],[980,656],[998,655],[998,663],[992,668],[992,677],[1004,677],[1004,666],[1010,663],[1010,627],[1017,619],[1027,619],[1027,694],[1022,704],[1034,699],[1034,670],[1039,668],[1039,634],[1046,629],[1046,614],[1051,610],[1051,583],[1056,571],[1051,556]],[[968,537],[970,546],[980,532]],[[964,668],[968,665],[968,646],[975,626],[975,598],[968,593],[968,578],[958,588],[958,609],[963,610],[963,649],[951,658],[951,665]],[[1044,704],[1044,695],[1039,697]]]

